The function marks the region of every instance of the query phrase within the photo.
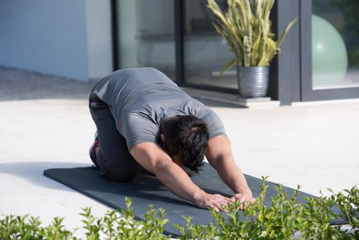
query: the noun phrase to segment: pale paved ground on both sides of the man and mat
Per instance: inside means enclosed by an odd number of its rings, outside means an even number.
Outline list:
[[[94,82],[0,68],[0,215],[66,217],[107,206],[42,176],[52,167],[89,166]],[[21,100],[18,100],[21,99]],[[238,165],[252,176],[314,195],[359,182],[359,103],[243,109],[209,103],[225,123]],[[80,233],[79,233],[80,234]]]

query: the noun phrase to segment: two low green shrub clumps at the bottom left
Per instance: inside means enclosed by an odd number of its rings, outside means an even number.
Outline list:
[[[127,210],[121,210],[121,215],[114,210],[98,218],[92,215],[91,208],[83,208],[80,215],[84,217],[86,239],[170,239],[163,235],[164,224],[168,221],[164,219],[163,209],[155,210],[149,205],[145,221],[136,221],[131,204],[131,200],[126,198]],[[0,239],[77,239],[74,232],[64,228],[62,221],[63,218],[55,217],[49,226],[42,227],[38,218],[28,215],[5,216],[0,220]]]

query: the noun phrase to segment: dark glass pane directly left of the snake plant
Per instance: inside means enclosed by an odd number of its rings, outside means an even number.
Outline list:
[[[185,82],[238,88],[236,69],[220,74],[234,54],[212,26],[214,16],[206,0],[184,1],[184,71]],[[226,0],[216,1],[226,8]]]

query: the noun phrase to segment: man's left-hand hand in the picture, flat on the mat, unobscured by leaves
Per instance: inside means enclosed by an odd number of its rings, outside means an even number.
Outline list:
[[[214,211],[223,211],[227,204],[232,204],[234,199],[229,197],[223,197],[219,194],[208,194],[204,191],[201,195],[195,200],[195,203],[199,208],[213,208]]]

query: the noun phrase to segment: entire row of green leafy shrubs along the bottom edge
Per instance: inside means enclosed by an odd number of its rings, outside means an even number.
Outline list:
[[[359,239],[359,190],[353,187],[325,197],[307,199],[307,204],[297,201],[299,186],[294,194],[284,191],[277,184],[277,194],[271,206],[264,206],[267,184],[263,178],[258,200],[249,204],[245,211],[237,211],[239,202],[226,207],[222,215],[210,210],[214,220],[210,224],[193,224],[186,219],[186,228],[176,225],[182,233],[180,239]],[[132,202],[126,199],[127,210],[108,211],[103,217],[95,217],[91,208],[83,208],[82,221],[86,239],[170,239],[163,235],[165,219],[163,209],[155,210],[149,205],[144,221],[134,219]],[[331,208],[341,208],[335,215]],[[347,219],[351,230],[330,226],[330,221],[341,217]],[[240,220],[239,220],[240,218]],[[37,217],[8,215],[0,220],[0,239],[77,239],[74,232],[66,230],[63,218],[55,217],[49,226],[41,226]],[[300,232],[300,237],[295,237]]]

